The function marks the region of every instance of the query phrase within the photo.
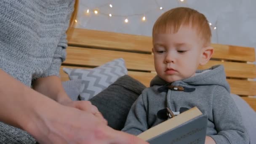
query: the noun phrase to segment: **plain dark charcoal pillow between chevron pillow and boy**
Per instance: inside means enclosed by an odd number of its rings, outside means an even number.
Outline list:
[[[110,127],[120,131],[133,102],[144,88],[146,87],[138,80],[124,75],[89,101],[98,107]]]

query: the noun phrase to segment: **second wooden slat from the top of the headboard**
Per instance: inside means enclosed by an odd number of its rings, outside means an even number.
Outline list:
[[[128,53],[122,51],[109,51],[91,48],[67,48],[67,60],[64,64],[78,64],[97,67],[114,59],[123,58],[128,69],[155,71],[153,56],[150,54]],[[209,61],[199,69],[207,69],[213,65],[223,64],[227,77],[255,78],[256,67],[254,64]]]

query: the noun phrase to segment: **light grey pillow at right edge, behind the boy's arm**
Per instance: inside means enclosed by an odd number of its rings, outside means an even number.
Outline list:
[[[249,106],[249,104],[247,104],[246,101],[240,98],[240,96],[235,94],[231,94],[231,96],[242,115],[243,124],[250,136],[250,144],[256,144],[256,112]]]

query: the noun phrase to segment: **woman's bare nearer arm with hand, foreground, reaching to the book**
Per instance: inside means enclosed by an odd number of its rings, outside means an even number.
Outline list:
[[[58,104],[1,69],[0,106],[0,121],[29,132],[40,144],[146,144],[109,128],[92,112]]]

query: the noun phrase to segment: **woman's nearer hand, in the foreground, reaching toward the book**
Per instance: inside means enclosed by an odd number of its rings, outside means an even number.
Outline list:
[[[92,112],[49,101],[47,105],[44,109],[35,108],[39,113],[27,127],[40,144],[147,144],[108,127]]]

